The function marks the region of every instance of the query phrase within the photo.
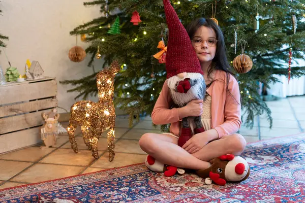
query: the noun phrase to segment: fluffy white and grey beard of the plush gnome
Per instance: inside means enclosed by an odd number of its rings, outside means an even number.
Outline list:
[[[189,89],[187,93],[180,93],[176,91],[176,86],[179,81],[185,78],[191,80],[197,80],[197,83]],[[184,107],[189,101],[194,99],[203,99],[205,94],[204,78],[200,73],[187,73],[187,76],[181,79],[178,76],[172,76],[166,80],[166,83],[170,89],[171,97],[176,105]]]

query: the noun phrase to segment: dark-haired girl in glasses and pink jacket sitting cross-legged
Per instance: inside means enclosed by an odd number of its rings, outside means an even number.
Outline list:
[[[155,124],[171,123],[170,133],[145,133],[139,144],[143,151],[162,163],[204,170],[213,158],[224,154],[239,155],[245,149],[246,141],[236,134],[241,125],[240,94],[238,83],[229,71],[221,29],[213,20],[200,18],[190,23],[187,32],[204,73],[205,99],[170,109],[173,101],[165,82],[151,118]],[[200,115],[205,131],[194,134],[179,147],[181,119]]]

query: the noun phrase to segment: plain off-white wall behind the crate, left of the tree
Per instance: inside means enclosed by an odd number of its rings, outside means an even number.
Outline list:
[[[71,88],[59,84],[65,79],[79,79],[93,73],[87,66],[89,56],[80,63],[70,61],[69,50],[75,46],[75,36],[69,32],[76,26],[101,16],[98,6],[83,6],[86,0],[2,0],[0,9],[0,33],[9,37],[6,53],[12,66],[23,75],[26,59],[37,60],[44,75],[57,78],[58,106],[70,111],[76,93],[67,93]],[[85,49],[88,45],[80,41]],[[5,71],[9,67],[4,52],[0,64]],[[95,62],[95,69],[102,69],[102,61]],[[89,98],[97,101],[96,98]],[[58,109],[59,112],[65,112]]]

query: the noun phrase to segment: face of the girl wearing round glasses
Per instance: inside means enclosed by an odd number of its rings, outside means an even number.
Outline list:
[[[192,44],[200,62],[211,61],[215,57],[217,48],[214,29],[205,26],[199,27],[195,32]]]

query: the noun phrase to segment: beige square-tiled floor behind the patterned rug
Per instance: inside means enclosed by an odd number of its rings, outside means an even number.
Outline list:
[[[261,138],[270,139],[303,132],[305,129],[305,96],[289,97],[268,102],[272,111],[273,128],[268,128],[264,116],[256,119],[252,129],[240,128],[247,142],[256,142]],[[67,123],[62,123],[67,125]],[[151,126],[151,119],[146,117],[133,128],[128,128],[128,119],[116,119],[115,158],[108,161],[106,152],[106,133],[99,141],[100,158],[95,160],[83,143],[80,130],[76,138],[79,153],[71,149],[67,134],[60,135],[56,146],[40,149],[39,146],[29,147],[0,155],[0,189],[19,186],[27,183],[42,182],[83,173],[90,173],[105,168],[119,167],[144,162],[143,152],[138,140],[145,132],[161,132]]]

